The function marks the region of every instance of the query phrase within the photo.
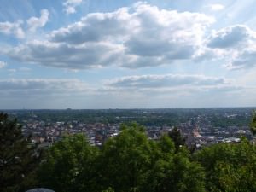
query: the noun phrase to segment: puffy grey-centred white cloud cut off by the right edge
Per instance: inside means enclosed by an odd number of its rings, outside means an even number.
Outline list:
[[[195,60],[223,59],[230,69],[255,67],[256,32],[248,26],[236,25],[213,31],[206,47]]]

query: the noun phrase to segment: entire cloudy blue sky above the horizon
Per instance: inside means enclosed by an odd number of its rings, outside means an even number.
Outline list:
[[[0,109],[256,106],[254,0],[0,0]]]

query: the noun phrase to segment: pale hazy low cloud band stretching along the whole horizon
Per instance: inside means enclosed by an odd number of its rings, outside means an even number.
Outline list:
[[[99,86],[89,86],[79,79],[0,79],[0,105],[2,108],[198,108],[236,106],[234,97],[247,93],[245,87],[231,79],[190,74],[128,76]],[[255,93],[255,88],[249,91]]]

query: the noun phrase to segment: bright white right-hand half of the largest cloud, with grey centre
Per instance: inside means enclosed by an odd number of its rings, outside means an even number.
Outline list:
[[[140,4],[133,15],[139,22],[125,42],[128,54],[186,60],[201,45],[205,29],[214,21],[207,15],[158,9]]]

